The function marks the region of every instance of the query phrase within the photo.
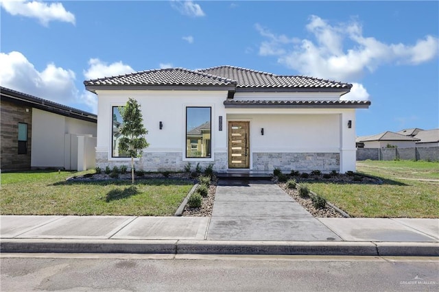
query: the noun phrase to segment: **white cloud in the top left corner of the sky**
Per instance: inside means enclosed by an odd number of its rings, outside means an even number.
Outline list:
[[[0,6],[12,15],[38,19],[42,25],[50,21],[64,21],[75,24],[75,15],[65,10],[62,3],[43,3],[40,1],[0,0]]]

